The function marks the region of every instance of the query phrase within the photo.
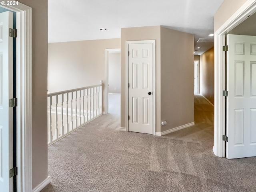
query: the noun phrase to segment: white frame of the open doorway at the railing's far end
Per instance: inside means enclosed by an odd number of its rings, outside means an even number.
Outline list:
[[[108,72],[109,72],[109,53],[121,53],[120,48],[105,49],[105,111],[103,114],[108,114]],[[121,56],[121,54],[120,54]],[[120,60],[121,65],[121,60]],[[120,71],[121,73],[121,71]],[[120,82],[121,83],[121,82]]]

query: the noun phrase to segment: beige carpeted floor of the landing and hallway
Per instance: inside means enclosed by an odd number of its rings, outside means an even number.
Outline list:
[[[122,132],[102,115],[48,148],[42,192],[256,191],[256,158],[216,157],[213,107],[195,96],[195,125],[162,137]]]

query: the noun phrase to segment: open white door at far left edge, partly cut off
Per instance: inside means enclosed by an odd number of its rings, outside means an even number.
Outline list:
[[[0,13],[0,191],[13,190],[13,179],[9,178],[12,168],[12,124],[13,110],[9,108],[9,99],[13,93],[12,79],[12,12]]]

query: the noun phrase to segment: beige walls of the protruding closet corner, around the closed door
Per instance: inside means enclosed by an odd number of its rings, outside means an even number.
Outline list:
[[[126,127],[127,116],[125,46],[138,40],[156,40],[156,132],[193,122],[193,35],[161,26],[135,27],[121,29],[121,127]],[[161,125],[164,120],[166,126]]]

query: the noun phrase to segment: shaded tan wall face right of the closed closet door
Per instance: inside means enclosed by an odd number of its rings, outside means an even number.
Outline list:
[[[194,36],[161,27],[161,131],[194,122]]]

